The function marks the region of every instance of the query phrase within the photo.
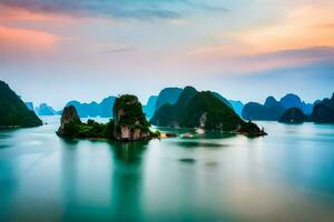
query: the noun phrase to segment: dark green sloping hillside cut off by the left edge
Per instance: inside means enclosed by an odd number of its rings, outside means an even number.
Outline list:
[[[41,125],[42,121],[29,110],[26,103],[0,81],[0,128],[29,128]]]

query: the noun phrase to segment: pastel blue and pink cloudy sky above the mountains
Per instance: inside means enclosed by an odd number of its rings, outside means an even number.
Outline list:
[[[194,85],[263,102],[334,91],[333,0],[0,0],[0,80],[24,100]]]

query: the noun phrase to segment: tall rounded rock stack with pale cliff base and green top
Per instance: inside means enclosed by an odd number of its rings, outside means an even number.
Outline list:
[[[135,95],[122,95],[114,105],[114,138],[120,141],[150,139],[150,124],[143,112],[141,104]]]

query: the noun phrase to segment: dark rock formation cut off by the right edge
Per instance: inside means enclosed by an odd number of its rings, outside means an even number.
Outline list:
[[[334,123],[334,93],[331,99],[315,104],[311,119],[316,123]]]

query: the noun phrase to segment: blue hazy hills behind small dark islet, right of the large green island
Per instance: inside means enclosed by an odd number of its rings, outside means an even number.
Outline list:
[[[305,114],[311,114],[314,103],[306,103],[296,94],[286,94],[279,101],[274,97],[268,97],[264,104],[248,102],[243,109],[245,120],[269,120],[277,121],[283,113],[291,108],[298,108]]]

